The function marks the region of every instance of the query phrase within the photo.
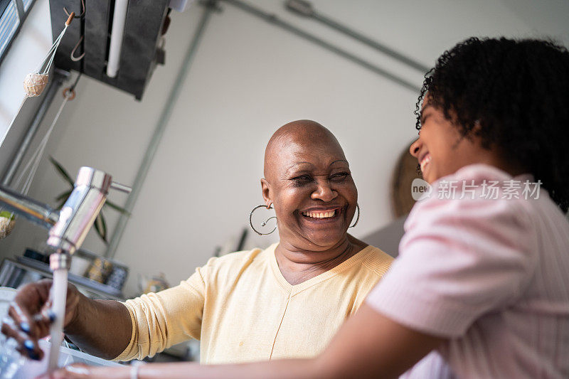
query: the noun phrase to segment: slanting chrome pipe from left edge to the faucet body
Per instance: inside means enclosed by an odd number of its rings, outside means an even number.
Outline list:
[[[46,229],[53,227],[59,220],[59,212],[50,208],[49,205],[23,196],[3,186],[0,186],[0,203],[3,203],[4,208],[11,212],[21,215],[32,223]]]

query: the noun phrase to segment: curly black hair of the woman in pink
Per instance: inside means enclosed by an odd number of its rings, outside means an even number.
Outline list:
[[[425,75],[425,93],[464,137],[479,137],[569,208],[569,52],[550,41],[469,38]],[[479,125],[479,126],[478,126]]]

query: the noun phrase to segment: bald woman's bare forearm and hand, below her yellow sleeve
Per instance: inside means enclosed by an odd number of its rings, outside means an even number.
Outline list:
[[[51,280],[26,284],[18,290],[4,320],[2,333],[16,338],[26,355],[42,358],[38,339],[49,334],[49,292]],[[65,304],[65,334],[87,353],[102,358],[115,358],[129,344],[132,322],[129,311],[118,301],[92,300],[68,284]],[[26,348],[33,343],[33,349]]]

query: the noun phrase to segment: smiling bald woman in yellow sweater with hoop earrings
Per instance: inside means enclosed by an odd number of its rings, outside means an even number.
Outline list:
[[[321,352],[392,258],[346,233],[358,192],[328,129],[307,120],[278,129],[264,174],[262,196],[275,208],[279,243],[211,258],[179,286],[124,303],[87,299],[70,285],[65,334],[117,361],[154,356],[188,338],[201,340],[202,363]],[[49,287],[23,287],[9,311],[21,331],[2,326],[36,358],[37,338],[48,333]]]

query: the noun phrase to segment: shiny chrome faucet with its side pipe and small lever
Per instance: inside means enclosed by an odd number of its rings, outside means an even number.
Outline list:
[[[90,167],[81,167],[68,200],[58,212],[48,205],[0,186],[0,203],[14,213],[49,229],[48,246],[63,255],[73,253],[83,244],[109,190],[129,193],[131,188],[112,181],[112,176]],[[68,257],[50,260],[50,268],[68,268]],[[54,267],[56,266],[56,267]]]

